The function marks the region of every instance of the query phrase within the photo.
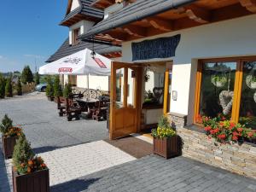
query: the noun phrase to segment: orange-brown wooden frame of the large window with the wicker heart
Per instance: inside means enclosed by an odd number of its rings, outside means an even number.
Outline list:
[[[195,109],[194,109],[194,124],[196,124],[196,117],[200,115],[200,99],[201,99],[201,79],[202,67],[206,62],[236,62],[236,78],[234,85],[234,98],[231,112],[231,120],[238,123],[241,104],[241,88],[243,76],[243,62],[256,61],[256,56],[241,56],[241,57],[224,57],[214,59],[203,59],[197,63],[196,84],[195,84]]]

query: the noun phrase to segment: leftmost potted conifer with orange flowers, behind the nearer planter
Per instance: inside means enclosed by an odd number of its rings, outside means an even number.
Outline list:
[[[13,121],[7,114],[2,119],[0,131],[2,132],[3,155],[5,159],[9,159],[13,155],[16,139],[20,137],[22,131],[19,127],[13,126]]]

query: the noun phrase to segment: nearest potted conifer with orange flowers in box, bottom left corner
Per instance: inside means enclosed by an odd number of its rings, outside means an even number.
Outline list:
[[[49,192],[49,169],[44,160],[32,152],[24,135],[15,145],[12,177],[14,192]]]

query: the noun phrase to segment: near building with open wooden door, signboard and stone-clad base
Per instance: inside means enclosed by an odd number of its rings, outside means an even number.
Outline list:
[[[256,177],[253,143],[214,147],[195,122],[199,114],[224,113],[256,129],[255,1],[96,0],[91,6],[104,10],[104,20],[79,39],[122,44],[122,62],[112,67],[110,137],[140,132],[167,113],[184,155]]]

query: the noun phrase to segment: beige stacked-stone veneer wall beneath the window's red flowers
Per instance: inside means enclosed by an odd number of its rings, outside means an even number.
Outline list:
[[[256,145],[253,143],[221,144],[209,139],[202,128],[191,125],[183,128],[182,115],[169,114],[177,134],[183,140],[183,156],[218,166],[230,172],[256,178]]]

